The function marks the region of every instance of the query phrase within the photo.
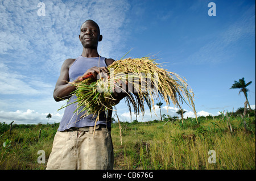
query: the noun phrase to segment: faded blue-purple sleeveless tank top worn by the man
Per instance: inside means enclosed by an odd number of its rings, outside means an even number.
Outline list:
[[[75,81],[79,76],[83,75],[86,70],[92,68],[93,66],[107,66],[104,57],[86,58],[79,56],[75,62],[69,68],[69,81]],[[73,95],[67,102],[67,104],[75,102],[77,99],[76,95]],[[76,111],[77,103],[73,103],[65,108],[64,115],[60,121],[60,126],[58,131],[65,131],[66,129],[75,127],[93,127],[95,125],[97,115],[88,115],[86,117],[80,118],[84,112],[79,113]],[[105,124],[109,128],[111,127],[111,121],[106,121],[106,113],[102,112],[100,114],[100,119],[97,121],[98,124]]]

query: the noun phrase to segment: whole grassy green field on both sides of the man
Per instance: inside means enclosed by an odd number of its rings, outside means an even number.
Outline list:
[[[225,117],[180,123],[121,123],[122,145],[118,123],[112,124],[114,169],[255,169],[255,116],[246,118],[246,129],[240,117],[230,117],[233,132]],[[0,169],[46,168],[59,124],[13,125],[11,133],[10,125],[0,124]],[[39,150],[46,163],[38,163]]]

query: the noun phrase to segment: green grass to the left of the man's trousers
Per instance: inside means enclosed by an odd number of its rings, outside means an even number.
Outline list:
[[[38,163],[38,151],[45,151],[47,161],[58,127],[59,124],[13,125],[11,134],[9,131],[0,132],[0,169],[45,169],[46,164]],[[11,141],[8,150],[2,146],[7,139]]]

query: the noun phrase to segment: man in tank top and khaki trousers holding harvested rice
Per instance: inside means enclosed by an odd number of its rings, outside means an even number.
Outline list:
[[[80,81],[81,77],[90,73],[94,78],[98,74],[107,77],[106,66],[114,62],[112,58],[104,58],[98,54],[98,42],[102,40],[102,35],[98,24],[93,20],[86,20],[82,24],[79,40],[83,47],[82,54],[76,59],[65,60],[61,66],[60,77],[53,92],[56,101],[70,98],[68,104],[74,102],[76,96],[71,96],[71,92],[76,87],[67,81]],[[123,98],[117,92],[115,96],[117,102]],[[96,116],[80,118],[84,113],[79,113],[76,108],[76,103],[65,108],[47,169],[113,169],[114,155],[110,136],[112,113],[106,116],[102,112],[94,131]]]

